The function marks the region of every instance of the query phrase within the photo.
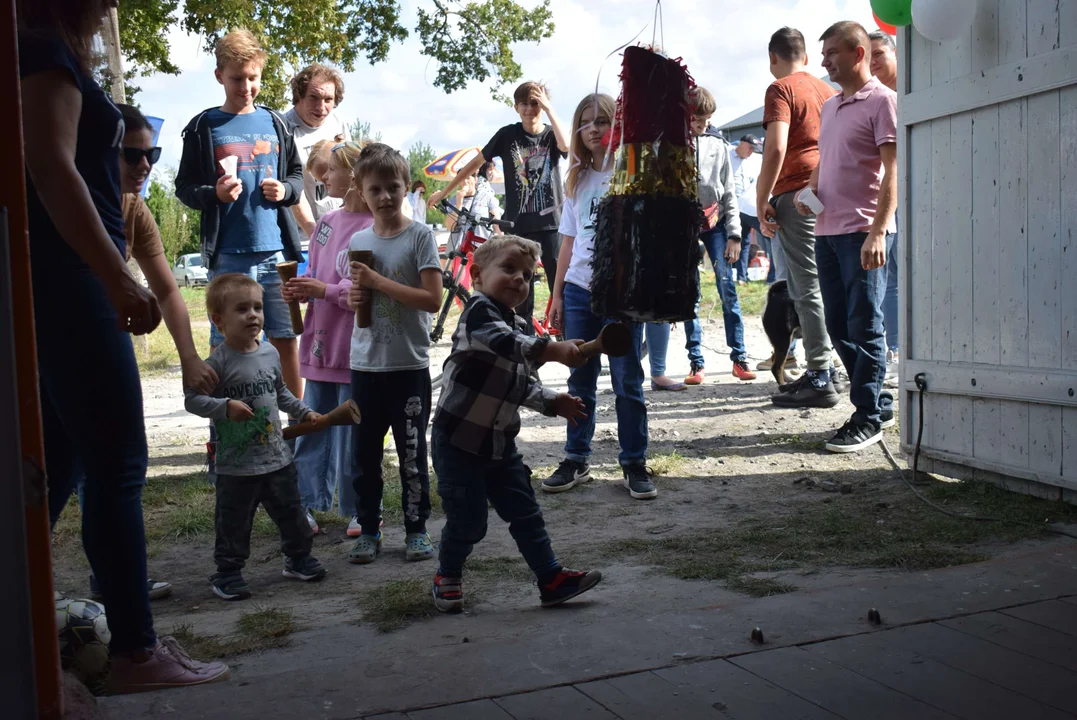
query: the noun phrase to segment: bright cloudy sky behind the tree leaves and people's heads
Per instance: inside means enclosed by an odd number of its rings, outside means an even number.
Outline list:
[[[534,0],[522,0],[533,5]],[[415,27],[415,8],[429,0],[402,0],[402,20]],[[557,112],[565,123],[586,94],[595,90],[617,95],[618,55],[610,53],[639,33],[651,41],[653,0],[553,0],[556,31],[541,44],[515,47],[524,80],[544,81],[550,88]],[[857,20],[875,30],[868,0],[666,0],[665,50],[684,58],[699,85],[714,94],[722,125],[763,104],[772,77],[768,71],[767,42],[770,34],[791,25],[808,39],[811,67],[820,67],[821,43],[816,39],[830,24]],[[659,26],[659,41],[661,40]],[[160,145],[163,166],[179,164],[180,131],[195,114],[223,101],[213,79],[214,61],[201,50],[201,40],[174,31],[170,36],[172,60],[181,74],[152,75],[135,84],[142,91],[137,101],[148,115],[165,118]],[[406,152],[425,142],[436,152],[482,145],[493,132],[518,119],[516,113],[490,97],[489,86],[472,82],[463,90],[446,95],[433,86],[435,65],[420,54],[419,42],[409,38],[394,45],[389,59],[377,66],[363,62],[345,74],[346,97],[337,113],[346,122],[362,119],[380,131],[382,140]],[[512,94],[512,87],[506,88]]]

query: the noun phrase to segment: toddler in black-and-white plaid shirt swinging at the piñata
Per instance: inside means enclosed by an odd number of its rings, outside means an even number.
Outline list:
[[[524,334],[514,309],[528,297],[538,262],[537,243],[512,235],[487,240],[475,252],[472,296],[452,336],[445,384],[434,414],[431,442],[437,493],[445,510],[434,606],[463,609],[463,567],[486,536],[487,500],[538,579],[543,607],[559,605],[593,588],[602,574],[561,567],[554,555],[531,470],[516,450],[521,405],[575,422],[584,403],[543,387],[534,366],[557,362],[579,367],[576,342],[551,342]]]

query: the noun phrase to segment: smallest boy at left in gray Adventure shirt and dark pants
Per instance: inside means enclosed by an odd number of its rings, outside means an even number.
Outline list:
[[[216,428],[216,573],[213,592],[223,599],[250,597],[242,568],[251,554],[251,526],[258,504],[280,528],[284,577],[321,580],[325,568],[310,555],[307,522],[292,462],[281,435],[278,407],[297,420],[319,415],[295,398],[280,369],[280,355],[262,342],[262,285],[240,273],[219,274],[206,292],[206,309],[224,342],[206,361],[216,372],[212,395],[184,390],[187,412]]]

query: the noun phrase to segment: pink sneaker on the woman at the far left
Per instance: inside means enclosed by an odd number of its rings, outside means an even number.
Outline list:
[[[192,660],[174,637],[162,637],[152,648],[113,655],[107,692],[124,695],[227,679],[228,666],[224,663]]]

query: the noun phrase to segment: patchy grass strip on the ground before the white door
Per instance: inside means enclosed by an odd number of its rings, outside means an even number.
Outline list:
[[[795,588],[753,577],[759,571],[812,571],[823,567],[875,567],[908,571],[979,562],[990,546],[1039,538],[1050,522],[1077,521],[1077,507],[1015,495],[978,482],[938,482],[926,489],[938,505],[977,522],[938,512],[912,495],[878,504],[867,493],[811,499],[794,513],[747,518],[731,527],[660,539],[607,543],[607,555],[630,554],[687,580],[722,580],[760,597]]]

